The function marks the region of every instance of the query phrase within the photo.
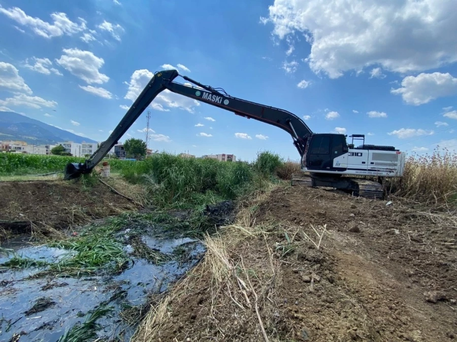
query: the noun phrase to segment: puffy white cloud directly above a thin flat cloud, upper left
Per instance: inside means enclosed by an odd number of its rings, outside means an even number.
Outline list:
[[[63,49],[63,53],[59,59],[56,59],[57,64],[81,80],[88,84],[103,84],[110,80],[107,75],[99,71],[103,64],[105,64],[103,58],[95,56],[90,51],[76,48]]]

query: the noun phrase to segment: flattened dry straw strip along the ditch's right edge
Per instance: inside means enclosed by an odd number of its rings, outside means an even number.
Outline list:
[[[133,340],[170,340],[167,333],[173,331],[176,336],[179,334],[176,326],[181,322],[184,325],[191,323],[181,313],[189,306],[198,311],[198,319],[192,324],[203,328],[191,329],[198,330],[199,336],[189,336],[190,340],[220,340],[223,336],[235,335],[239,328],[230,323],[235,316],[244,329],[250,329],[265,341],[276,340],[269,339],[266,329],[272,325],[274,317],[269,305],[270,296],[275,295],[273,285],[282,280],[276,275],[278,260],[273,259],[274,251],[267,243],[271,227],[258,225],[254,219],[255,208],[267,196],[268,192],[259,192],[251,201],[242,201],[236,224],[223,227],[218,234],[206,236],[207,253],[202,262],[158,305],[151,305]]]

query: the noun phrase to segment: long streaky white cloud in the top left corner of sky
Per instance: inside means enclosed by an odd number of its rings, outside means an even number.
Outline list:
[[[31,17],[18,7],[9,8],[7,10],[0,6],[0,13],[5,14],[22,26],[29,27],[36,34],[45,38],[72,35],[84,31],[87,28],[86,21],[83,18],[78,18],[80,22],[78,24],[71,21],[67,17],[67,14],[62,12],[51,13],[52,23],[43,21],[37,17]]]

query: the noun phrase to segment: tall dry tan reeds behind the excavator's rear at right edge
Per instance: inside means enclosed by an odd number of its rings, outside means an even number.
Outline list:
[[[423,204],[457,201],[457,154],[436,148],[432,155],[410,156],[403,177],[389,179],[390,194]]]

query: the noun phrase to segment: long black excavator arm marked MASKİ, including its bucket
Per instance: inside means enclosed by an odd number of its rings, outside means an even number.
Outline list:
[[[304,155],[306,141],[313,133],[298,116],[283,109],[232,97],[223,90],[205,86],[186,76],[182,78],[194,86],[174,82],[178,76],[177,70],[156,72],[108,139],[102,142],[100,147],[84,163],[67,164],[64,170],[64,178],[73,179],[82,174],[90,173],[103,160],[111,148],[118,143],[118,140],[133,125],[154,98],[166,89],[176,94],[232,111],[236,115],[279,127],[292,136],[293,144],[298,149],[300,156]]]

